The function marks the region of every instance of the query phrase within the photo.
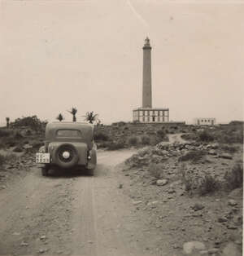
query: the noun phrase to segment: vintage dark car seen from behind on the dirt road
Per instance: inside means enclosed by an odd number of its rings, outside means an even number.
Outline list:
[[[94,126],[81,122],[54,121],[46,125],[45,146],[36,154],[43,176],[50,169],[93,170],[97,165]]]

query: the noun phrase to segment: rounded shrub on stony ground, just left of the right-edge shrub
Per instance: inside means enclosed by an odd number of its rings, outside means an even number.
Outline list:
[[[201,196],[215,192],[220,188],[220,183],[210,174],[206,174],[200,179],[198,192]]]

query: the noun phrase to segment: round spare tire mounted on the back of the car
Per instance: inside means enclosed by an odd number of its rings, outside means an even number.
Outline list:
[[[79,161],[78,152],[76,148],[72,146],[72,144],[60,145],[59,148],[56,149],[55,159],[57,165],[62,168],[70,168],[75,166]]]

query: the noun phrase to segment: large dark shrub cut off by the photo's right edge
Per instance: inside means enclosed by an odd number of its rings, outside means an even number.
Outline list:
[[[243,186],[243,166],[242,161],[238,161],[233,169],[227,171],[224,174],[224,179],[226,180],[227,188],[235,189],[241,188]]]

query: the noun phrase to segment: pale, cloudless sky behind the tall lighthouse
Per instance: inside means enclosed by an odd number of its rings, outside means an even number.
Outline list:
[[[244,2],[0,0],[0,123],[68,109],[104,124],[142,107],[152,46],[153,107],[171,121],[243,120]]]

